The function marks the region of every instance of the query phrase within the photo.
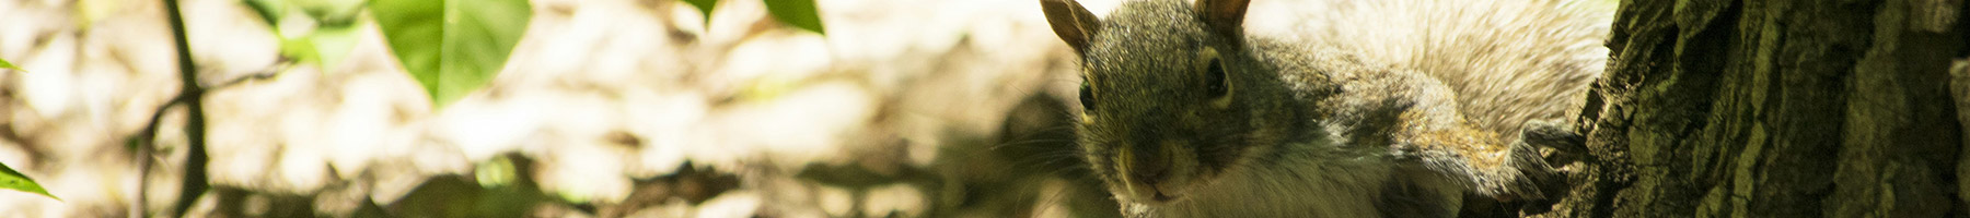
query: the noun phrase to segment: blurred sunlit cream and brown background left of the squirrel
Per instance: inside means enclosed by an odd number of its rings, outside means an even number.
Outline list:
[[[0,2],[0,216],[1115,212],[1032,2],[183,0],[191,169],[164,2]]]

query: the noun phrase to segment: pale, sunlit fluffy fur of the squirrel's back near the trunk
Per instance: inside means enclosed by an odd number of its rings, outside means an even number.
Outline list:
[[[1347,49],[1436,77],[1476,128],[1515,141],[1572,118],[1608,63],[1611,0],[1306,0],[1286,41]]]

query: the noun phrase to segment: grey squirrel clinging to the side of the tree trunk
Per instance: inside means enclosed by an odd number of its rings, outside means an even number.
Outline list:
[[[1600,75],[1592,61],[1507,69],[1564,79],[1501,92],[1527,79],[1478,81],[1474,71],[1499,69],[1478,65],[1487,61],[1247,35],[1247,4],[1133,0],[1097,18],[1040,0],[1082,61],[1078,151],[1123,214],[1448,218],[1470,196],[1564,194],[1541,147],[1578,149],[1580,136],[1552,118],[1578,108]]]

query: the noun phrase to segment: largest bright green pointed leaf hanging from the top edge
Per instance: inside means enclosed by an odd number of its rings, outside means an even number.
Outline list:
[[[526,0],[376,0],[390,51],[437,108],[485,86],[526,31]]]

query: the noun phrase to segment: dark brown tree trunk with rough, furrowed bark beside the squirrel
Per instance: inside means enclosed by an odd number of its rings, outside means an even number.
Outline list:
[[[1970,53],[1964,12],[1621,0],[1580,116],[1590,151],[1550,216],[1970,216],[1970,73],[1950,73]]]

